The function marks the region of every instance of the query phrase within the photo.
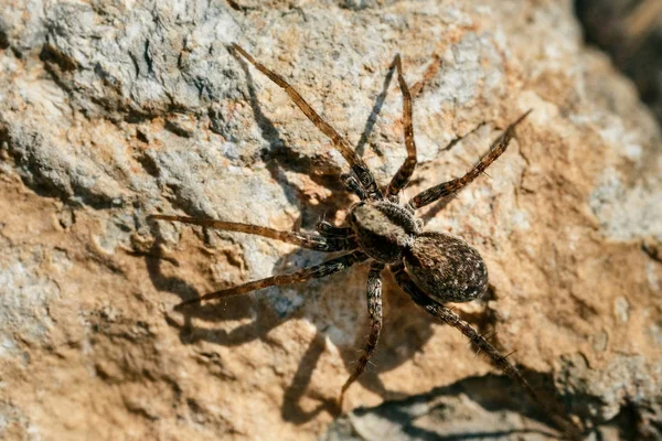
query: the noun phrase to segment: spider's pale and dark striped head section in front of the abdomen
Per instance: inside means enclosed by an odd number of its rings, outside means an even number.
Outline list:
[[[360,202],[348,217],[359,245],[375,260],[395,263],[420,233],[414,215],[387,201]]]

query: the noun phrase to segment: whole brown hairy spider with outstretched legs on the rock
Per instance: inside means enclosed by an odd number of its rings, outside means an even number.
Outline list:
[[[345,176],[345,185],[349,191],[359,196],[360,202],[351,206],[346,217],[346,226],[337,227],[322,220],[317,225],[317,234],[281,232],[257,225],[177,215],[156,214],[148,216],[149,219],[174,220],[227,232],[258,235],[317,251],[346,251],[340,257],[329,259],[321,265],[211,292],[184,301],[177,308],[181,309],[200,303],[203,300],[217,300],[229,295],[245,294],[263,288],[319,279],[343,271],[353,265],[370,261],[367,310],[371,332],[354,370],[342,386],[339,398],[340,407],[348,388],[365,370],[380,340],[383,323],[381,275],[388,268],[397,284],[414,302],[436,319],[456,327],[469,337],[471,343],[488,354],[496,368],[519,383],[566,433],[577,433],[575,424],[552,410],[542,400],[517,368],[506,359],[508,356],[501,355],[483,336],[484,334],[481,335],[451,309],[444,305],[447,302],[468,302],[481,297],[488,288],[488,270],[478,250],[462,239],[448,234],[424,230],[421,220],[415,216],[416,209],[442,197],[453,195],[483,173],[505,151],[515,135],[515,128],[522,123],[532,110],[526,111],[509,125],[503,135],[490,146],[488,153],[463,176],[435,185],[418,193],[409,201],[401,203],[401,192],[409,182],[417,161],[412,122],[413,99],[403,77],[399,55],[395,56],[393,64],[397,69],[397,80],[403,95],[407,158],[388,183],[388,186],[380,189],[366,163],[355,153],[348,140],[324,121],[292,86],[281,76],[258,63],[239,45],[232,44],[228,50],[234,52],[235,56],[237,56],[236,54],[241,55],[280,86],[308,119],[331,139],[333,147],[351,166],[353,174]]]

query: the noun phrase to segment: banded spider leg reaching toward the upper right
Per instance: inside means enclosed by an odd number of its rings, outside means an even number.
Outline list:
[[[496,160],[508,148],[511,139],[513,139],[515,135],[515,127],[524,120],[531,114],[532,110],[526,111],[517,120],[505,129],[502,136],[500,136],[490,146],[490,151],[485,154],[479,162],[465,174],[462,178],[456,178],[448,182],[444,182],[439,185],[435,185],[428,190],[425,190],[418,193],[409,201],[409,205],[414,208],[420,208],[433,202],[440,200],[441,197],[446,197],[452,193],[459,192],[465,186],[467,186],[471,181],[478,178],[481,173],[485,171],[492,162]]]

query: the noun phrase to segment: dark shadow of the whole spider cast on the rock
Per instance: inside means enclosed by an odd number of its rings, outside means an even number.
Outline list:
[[[263,160],[268,164],[268,170],[274,180],[284,187],[288,201],[292,205],[299,205],[300,198],[303,197],[296,194],[296,191],[292,190],[296,186],[288,181],[282,171],[289,170],[306,173],[316,164],[306,158],[292,154],[290,149],[287,148],[276,126],[261,111],[247,64],[243,60],[239,60],[239,62],[245,71],[245,77],[248,83],[248,98],[255,120],[260,129],[263,139],[269,144],[269,148],[263,153]],[[378,112],[386,99],[393,74],[394,66],[392,65],[385,77],[382,92],[377,96],[366,121],[357,147],[360,151],[364,150],[370,135],[374,129]],[[330,187],[334,196],[320,201],[320,204],[313,208],[307,207],[302,209],[305,214],[298,224],[307,229],[312,229],[322,214],[333,213],[341,207],[346,207],[352,202],[351,197],[340,185],[338,178],[329,179],[323,174],[316,174],[313,175],[313,181],[320,185]],[[162,267],[163,259],[158,257],[160,245],[163,241],[161,238],[162,235],[157,229],[154,236],[157,237],[157,241],[145,256],[148,272],[154,288],[160,291],[172,292],[181,300],[189,300],[203,294],[182,279],[167,276],[168,271],[164,271]],[[281,257],[274,266],[271,272],[284,272],[282,268],[292,262],[295,267],[303,267],[318,263],[321,260],[323,259],[319,254],[297,250]],[[366,271],[361,269],[361,267],[354,268],[351,271],[361,271],[363,277],[361,280],[355,281],[355,287],[340,290],[341,292],[339,293],[330,292],[330,289],[337,284],[333,283],[333,278],[341,280],[342,277],[346,278],[346,276],[335,275],[322,280],[312,280],[306,284],[305,289],[292,287],[290,290],[288,287],[287,291],[295,291],[295,297],[297,297],[297,293],[303,297],[302,303],[299,305],[295,305],[291,302],[289,293],[287,295],[284,293],[286,289],[270,288],[255,295],[248,294],[228,298],[218,303],[205,303],[188,308],[178,313],[168,313],[167,321],[171,326],[179,329],[180,340],[183,344],[193,344],[203,341],[223,346],[238,346],[255,340],[260,340],[270,345],[279,345],[280,343],[269,335],[274,329],[291,319],[306,318],[310,320],[314,324],[317,332],[314,337],[311,338],[305,355],[301,357],[290,385],[285,390],[281,408],[282,418],[286,421],[301,424],[311,420],[320,412],[337,413],[339,410],[337,396],[322,396],[320,392],[309,390],[314,369],[327,349],[327,341],[331,340],[340,348],[341,356],[349,372],[352,370],[352,364],[357,358],[356,351],[361,349],[364,344],[364,337],[369,330],[367,313],[365,311]],[[329,291],[327,294],[337,300],[338,305],[342,306],[340,308],[341,310],[344,308],[355,313],[354,319],[356,320],[353,335],[345,335],[344,338],[338,340],[334,337],[337,333],[329,332],[329,327],[332,324],[319,319],[320,303],[323,295],[317,295],[314,299],[311,299],[309,294],[308,297],[306,297],[307,294],[301,295],[301,292],[310,293],[323,291],[324,289]],[[360,302],[356,302],[356,299],[360,299]],[[420,351],[433,335],[433,320],[395,287],[391,277],[385,277],[384,303],[384,330],[377,354],[374,357],[377,362],[377,368],[376,372],[369,370],[364,373],[360,377],[359,383],[384,399],[396,399],[403,398],[404,395],[388,390],[380,380],[378,374],[399,366],[410,359],[416,352]],[[328,308],[328,311],[332,310],[334,308]],[[183,321],[178,320],[174,314],[181,314]],[[229,321],[248,321],[248,323],[239,324],[231,330],[223,329],[224,326],[212,325],[210,327],[196,326],[195,324],[195,322],[213,324]],[[312,410],[307,410],[302,405],[303,399],[313,400],[317,405]]]

